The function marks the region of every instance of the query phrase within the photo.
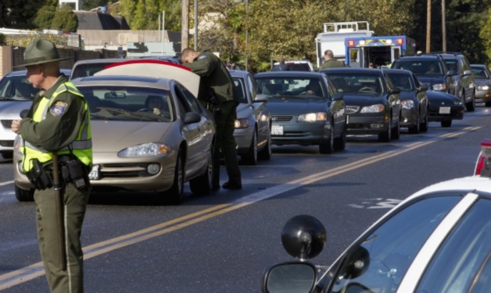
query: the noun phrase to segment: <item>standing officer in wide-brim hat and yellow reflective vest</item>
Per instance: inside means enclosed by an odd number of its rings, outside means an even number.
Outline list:
[[[52,292],[66,293],[84,290],[80,232],[90,194],[92,139],[87,103],[60,73],[61,60],[50,41],[36,39],[26,47],[25,64],[18,67],[27,69],[29,82],[40,91],[27,116],[12,122],[12,130],[23,139],[23,172],[36,188],[37,238],[48,284]],[[54,184],[57,169],[60,184]]]

